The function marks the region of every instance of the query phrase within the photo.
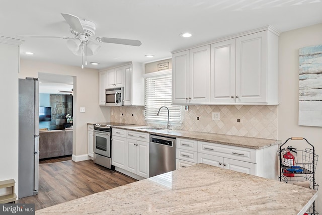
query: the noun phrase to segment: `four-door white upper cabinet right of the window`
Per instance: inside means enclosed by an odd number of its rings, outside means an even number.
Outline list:
[[[210,55],[174,53],[173,103],[278,105],[278,35],[266,27],[214,41]]]

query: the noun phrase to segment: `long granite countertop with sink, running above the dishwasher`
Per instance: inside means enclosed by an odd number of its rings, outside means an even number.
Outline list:
[[[168,136],[168,137],[182,137],[186,139],[193,139],[198,141],[213,142],[215,144],[229,145],[236,147],[244,147],[250,149],[264,149],[270,146],[281,144],[280,140],[276,139],[263,139],[255,137],[234,136],[216,133],[206,133],[187,130],[143,130],[140,127],[149,127],[143,125],[123,125],[112,126],[112,128],[121,128],[126,130],[134,130],[140,132],[146,132],[150,134]]]

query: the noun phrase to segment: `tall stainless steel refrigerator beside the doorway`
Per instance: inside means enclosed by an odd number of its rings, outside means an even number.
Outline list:
[[[39,82],[19,79],[18,198],[38,194]]]

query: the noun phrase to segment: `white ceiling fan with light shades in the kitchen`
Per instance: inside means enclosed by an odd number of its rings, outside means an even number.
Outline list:
[[[115,43],[123,45],[140,46],[142,43],[139,40],[120,39],[120,38],[109,38],[109,37],[96,37],[94,36],[96,25],[92,21],[79,19],[78,17],[71,14],[61,13],[63,18],[70,26],[70,32],[74,34],[74,37],[59,37],[59,36],[36,36],[36,35],[21,35],[24,37],[41,37],[41,38],[62,38],[67,40],[67,47],[72,51],[73,54],[82,56],[82,68],[84,68],[84,56],[85,65],[87,65],[87,56],[96,54],[101,46],[95,42],[100,43]]]

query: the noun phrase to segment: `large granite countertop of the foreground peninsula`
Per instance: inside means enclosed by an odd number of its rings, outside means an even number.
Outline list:
[[[197,164],[36,214],[303,214],[315,190]]]

